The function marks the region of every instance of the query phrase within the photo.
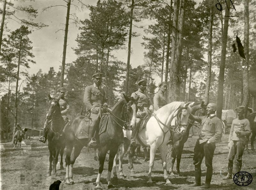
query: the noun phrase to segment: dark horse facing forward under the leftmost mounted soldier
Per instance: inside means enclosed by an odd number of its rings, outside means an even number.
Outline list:
[[[59,99],[49,97],[49,109],[47,112],[47,119],[50,127],[48,129],[48,149],[49,149],[49,170],[47,176],[50,176],[52,171],[56,175],[56,166],[58,163],[59,153],[61,155],[60,169],[63,169],[63,151],[65,149],[64,136],[61,136],[65,122],[61,116]]]

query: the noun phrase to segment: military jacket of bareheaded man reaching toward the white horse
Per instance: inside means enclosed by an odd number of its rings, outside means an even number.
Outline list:
[[[190,115],[189,119],[193,119],[201,123],[201,133],[199,135],[199,143],[207,142],[218,143],[221,142],[222,137],[222,123],[215,115],[209,116],[193,116]]]

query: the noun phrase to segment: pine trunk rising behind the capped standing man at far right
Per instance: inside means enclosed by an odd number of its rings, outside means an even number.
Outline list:
[[[246,60],[243,59],[243,103],[247,108],[249,105],[249,0],[244,0],[244,54]],[[247,111],[245,112],[246,116]]]

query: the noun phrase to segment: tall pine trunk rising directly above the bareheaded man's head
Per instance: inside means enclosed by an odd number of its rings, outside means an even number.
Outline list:
[[[212,25],[213,25],[213,1],[209,1],[210,15],[209,15],[209,33],[208,33],[208,62],[207,62],[207,79],[205,84],[204,102],[208,104],[210,101],[210,88],[212,77]]]

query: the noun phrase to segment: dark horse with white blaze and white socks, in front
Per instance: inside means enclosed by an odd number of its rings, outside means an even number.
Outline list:
[[[108,111],[108,115],[101,118],[101,123],[106,123],[106,127],[103,131],[100,129],[99,133],[99,170],[98,177],[96,179],[96,188],[101,188],[100,177],[104,167],[104,161],[106,153],[109,151],[109,168],[107,175],[108,187],[111,188],[111,172],[113,167],[113,159],[117,152],[119,144],[123,140],[123,126],[126,125],[129,128],[134,128],[136,125],[136,113],[138,110],[137,100],[129,98],[124,95],[125,99],[118,101],[113,107],[112,111]],[[65,131],[65,139],[67,144],[67,156],[66,156],[66,183],[73,184],[73,165],[76,158],[79,156],[83,146],[87,146],[88,139],[78,139],[74,135],[74,131],[79,127],[84,116],[78,116],[72,119],[68,124],[70,125]],[[74,152],[71,152],[74,147]]]

